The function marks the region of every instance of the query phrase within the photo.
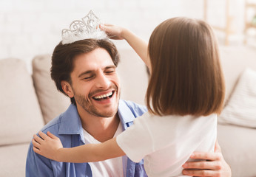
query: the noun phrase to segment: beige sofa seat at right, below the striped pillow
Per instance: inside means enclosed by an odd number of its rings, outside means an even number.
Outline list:
[[[256,176],[256,129],[218,124],[218,142],[233,177]]]

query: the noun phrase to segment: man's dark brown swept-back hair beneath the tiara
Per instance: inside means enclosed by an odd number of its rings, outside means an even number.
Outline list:
[[[72,44],[61,44],[61,42],[55,46],[52,56],[52,67],[50,69],[51,77],[55,82],[58,91],[67,95],[62,87],[61,81],[67,81],[72,84],[70,77],[73,72],[74,63],[73,60],[76,56],[92,52],[95,49],[102,48],[106,49],[110,54],[115,66],[118,66],[119,54],[115,44],[109,39],[85,39],[81,41],[75,41]],[[70,98],[71,103],[75,105],[75,98]]]

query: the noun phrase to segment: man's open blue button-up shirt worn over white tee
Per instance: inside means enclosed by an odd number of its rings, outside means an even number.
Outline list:
[[[121,120],[123,130],[131,126],[133,123],[132,121],[136,117],[140,117],[146,111],[145,106],[130,101],[120,100],[118,105],[118,116]],[[50,121],[41,131],[44,133],[50,131],[58,136],[64,147],[84,145],[84,132],[75,105],[70,105],[67,111]],[[126,171],[127,177],[146,176],[143,161],[135,163],[130,159],[127,159],[127,169],[124,169],[124,171]],[[40,156],[33,151],[33,145],[30,143],[27,153],[26,176],[91,177],[92,170],[88,163],[56,162],[47,159],[44,156]]]

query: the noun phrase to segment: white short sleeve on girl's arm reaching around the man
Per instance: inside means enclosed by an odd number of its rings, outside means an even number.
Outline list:
[[[154,152],[152,136],[146,125],[149,114],[144,114],[134,120],[134,124],[116,138],[118,146],[124,150],[133,162],[140,162],[149,153]]]

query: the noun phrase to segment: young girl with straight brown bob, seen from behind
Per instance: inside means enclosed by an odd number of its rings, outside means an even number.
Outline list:
[[[41,138],[34,136],[33,150],[48,159],[74,163],[127,154],[134,162],[144,159],[148,176],[181,176],[182,164],[194,151],[213,152],[217,114],[223,107],[223,74],[211,27],[191,18],[170,18],[155,28],[148,46],[121,27],[101,29],[127,40],[149,67],[149,112],[101,144],[64,148],[58,137],[40,132]]]

